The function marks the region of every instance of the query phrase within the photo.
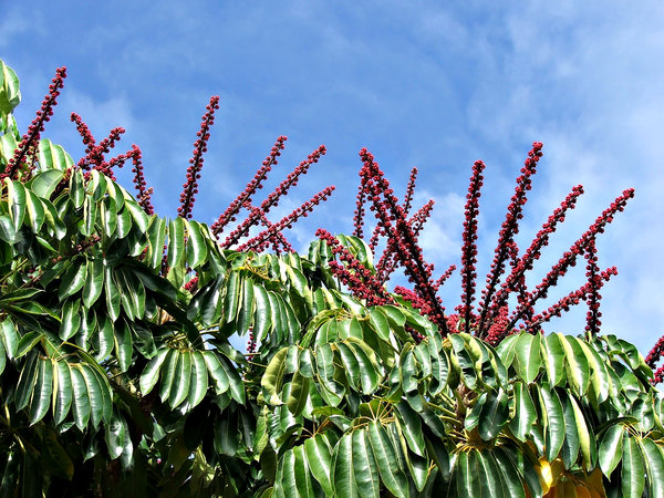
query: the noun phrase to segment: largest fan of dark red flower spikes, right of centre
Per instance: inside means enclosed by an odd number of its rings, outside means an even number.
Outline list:
[[[526,271],[532,269],[533,262],[540,258],[542,249],[549,243],[551,234],[556,231],[559,224],[564,221],[568,210],[574,208],[579,196],[583,194],[583,187],[575,186],[560,207],[542,225],[541,230],[528,249],[522,255],[519,252],[515,236],[519,232],[519,220],[523,218],[522,211],[527,201],[527,193],[531,189],[532,176],[542,156],[542,144],[539,142],[533,143],[532,149],[528,153],[525,165],[517,178],[517,186],[507,208],[507,215],[498,237],[498,245],[494,251],[491,268],[486,278],[487,287],[483,291],[481,302],[476,313],[473,310],[473,301],[475,300],[477,279],[475,268],[477,264],[477,218],[480,190],[484,183],[483,172],[485,169],[483,162],[476,162],[473,166],[473,175],[466,196],[464,245],[461,248],[461,301],[456,308],[458,314],[446,317],[444,313],[445,308],[437,292],[455,267],[450,267],[443,277],[434,281],[432,279],[433,264],[424,260],[422,248],[417,241],[424,222],[430,216],[433,201],[426,204],[413,217],[407,217],[414,197],[417,170],[413,169],[411,173],[404,201],[400,205],[390,188],[390,183],[374,162],[373,156],[366,149],[362,149],[360,156],[362,168],[360,170],[360,190],[354,212],[354,235],[362,236],[364,232],[365,205],[370,203],[369,210],[373,211],[377,219],[377,225],[373,229],[370,239],[370,248],[372,250],[376,249],[380,238],[386,238],[385,249],[376,264],[375,274],[372,274],[371,278],[380,283],[381,289],[383,289],[392,272],[398,266],[404,267],[404,271],[414,287],[413,289],[405,289],[400,286],[394,289],[394,292],[423,314],[428,315],[438,325],[440,333],[474,332],[477,336],[497,344],[504,338],[513,333],[517,330],[515,329],[517,324],[521,329],[535,333],[541,330],[541,323],[552,317],[560,315],[562,311],[578,304],[580,301],[587,301],[589,305],[587,330],[592,334],[599,332],[601,325],[601,312],[599,311],[601,294],[599,291],[613,274],[616,274],[616,269],[609,268],[600,272],[596,264],[594,240],[599,234],[604,231],[606,224],[613,220],[615,214],[624,209],[627,200],[634,196],[633,189],[623,191],[595,219],[588,231],[572,245],[560,261],[553,266],[543,281],[533,291],[529,291],[526,286]],[[548,295],[550,288],[558,283],[558,279],[567,273],[569,267],[575,264],[579,256],[583,256],[588,260],[588,282],[546,311],[536,314],[535,304]],[[349,261],[347,256],[341,258],[341,260],[344,266],[332,262],[330,264],[332,271],[339,276],[347,272],[349,274],[342,278],[342,281],[349,286],[355,295],[366,297],[365,299],[370,302],[367,295],[371,292],[371,287],[367,287],[366,278],[359,279],[355,272],[352,271],[357,262]],[[504,277],[508,263],[510,270],[507,277]],[[517,307],[510,314],[508,301],[511,293],[516,293]],[[657,357],[664,355],[664,351],[657,351],[656,354]]]

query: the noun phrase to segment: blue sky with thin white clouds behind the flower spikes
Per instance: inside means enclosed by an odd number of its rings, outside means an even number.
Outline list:
[[[419,168],[419,204],[436,200],[422,241],[444,271],[459,260],[464,197],[481,158],[481,276],[513,178],[541,141],[521,246],[573,185],[587,194],[529,282],[634,187],[635,199],[599,241],[600,264],[620,271],[602,291],[603,330],[644,353],[664,333],[661,2],[2,3],[0,58],[21,77],[20,123],[28,125],[54,69],[66,65],[46,135],[76,157],[83,147],[72,111],[98,137],[124,126],[118,152],[142,147],[162,215],[175,214],[200,116],[217,94],[197,219],[211,222],[284,134],[270,185],[319,144],[329,152],[283,210],[336,186],[289,238],[303,249],[319,226],[350,232],[357,152],[366,146],[397,191]],[[121,181],[128,186],[128,176]],[[583,283],[582,270],[561,281],[552,301]],[[455,278],[443,291],[448,309],[459,293]],[[580,305],[548,330],[578,333],[584,315]]]

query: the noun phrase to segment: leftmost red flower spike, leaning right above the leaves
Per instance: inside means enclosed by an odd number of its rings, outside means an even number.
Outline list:
[[[23,167],[27,168],[24,174],[25,179],[32,175],[41,132],[44,131],[45,124],[53,115],[53,107],[58,105],[58,97],[60,96],[60,90],[64,85],[65,77],[66,68],[58,68],[58,70],[55,70],[55,77],[53,77],[49,85],[49,93],[44,96],[41,107],[37,112],[37,116],[32,120],[30,126],[28,126],[28,131],[21,137],[21,142],[14,149],[13,156],[8,160],[7,168],[4,172],[0,173],[0,180],[3,180],[4,178],[13,179],[19,169]],[[29,157],[31,158],[30,163],[25,163]]]

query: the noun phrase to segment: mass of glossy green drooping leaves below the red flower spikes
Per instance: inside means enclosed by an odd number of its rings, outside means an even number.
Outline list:
[[[444,338],[340,289],[323,241],[220,250],[48,139],[34,164],[0,190],[0,495],[663,496],[662,396],[631,344]]]

